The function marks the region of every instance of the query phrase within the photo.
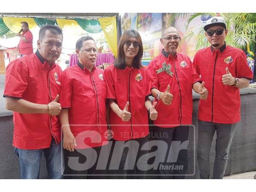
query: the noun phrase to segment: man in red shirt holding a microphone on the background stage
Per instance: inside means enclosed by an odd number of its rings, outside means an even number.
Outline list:
[[[22,34],[20,34],[22,32]],[[20,57],[33,53],[33,35],[29,31],[29,24],[25,21],[21,22],[21,29],[17,35],[20,37],[20,42],[17,45],[17,50],[20,52]]]

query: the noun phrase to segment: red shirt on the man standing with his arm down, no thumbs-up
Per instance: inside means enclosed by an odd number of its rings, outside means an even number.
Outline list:
[[[70,130],[76,137],[76,148],[108,144],[106,122],[106,82],[104,71],[92,72],[81,63],[67,68],[61,75],[62,108],[68,108]]]

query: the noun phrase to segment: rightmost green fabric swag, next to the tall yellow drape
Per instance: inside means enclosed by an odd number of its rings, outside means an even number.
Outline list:
[[[89,33],[99,33],[102,32],[102,27],[99,24],[98,20],[87,20],[87,19],[80,19],[74,18],[76,22],[81,26],[82,29]]]

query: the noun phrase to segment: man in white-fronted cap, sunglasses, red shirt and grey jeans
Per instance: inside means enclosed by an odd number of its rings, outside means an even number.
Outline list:
[[[217,132],[213,179],[222,179],[237,122],[240,121],[239,88],[247,87],[253,74],[244,51],[225,42],[227,25],[223,17],[212,17],[204,26],[210,47],[199,50],[193,64],[209,91],[199,101],[198,166],[201,179],[209,179],[209,153]]]

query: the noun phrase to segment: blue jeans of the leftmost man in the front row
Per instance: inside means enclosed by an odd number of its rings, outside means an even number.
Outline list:
[[[61,144],[56,144],[52,138],[49,148],[26,150],[15,147],[15,153],[20,161],[21,179],[39,179],[41,157],[44,153],[48,177],[61,179],[64,171],[64,161],[61,159]]]

